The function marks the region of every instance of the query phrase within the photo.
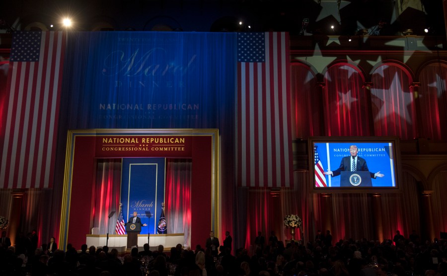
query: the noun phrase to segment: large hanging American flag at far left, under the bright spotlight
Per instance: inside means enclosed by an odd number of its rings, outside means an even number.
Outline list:
[[[66,33],[17,31],[2,106],[1,188],[53,185]]]

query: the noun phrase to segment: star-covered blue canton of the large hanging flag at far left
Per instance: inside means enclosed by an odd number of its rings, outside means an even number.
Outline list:
[[[41,32],[18,31],[13,36],[10,61],[38,62]]]

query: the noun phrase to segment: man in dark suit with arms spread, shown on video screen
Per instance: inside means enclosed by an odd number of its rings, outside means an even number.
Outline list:
[[[359,152],[359,149],[357,148],[356,145],[351,145],[349,147],[349,153],[351,154],[351,156],[346,156],[342,158],[342,161],[340,163],[340,167],[334,171],[327,171],[327,172],[323,172],[326,175],[332,175],[332,176],[338,176],[340,175],[341,171],[345,171],[345,172],[351,172],[351,171],[370,171],[368,169],[368,165],[366,163],[366,160],[363,159],[360,156],[357,156],[357,153]],[[373,173],[370,172],[371,178],[376,178],[376,177],[383,177],[384,174],[381,174],[380,171]]]

